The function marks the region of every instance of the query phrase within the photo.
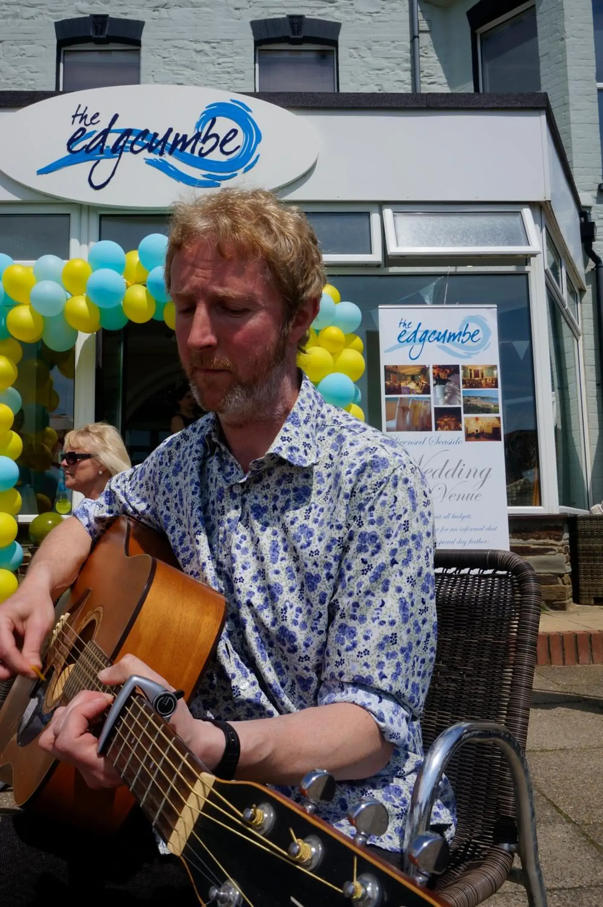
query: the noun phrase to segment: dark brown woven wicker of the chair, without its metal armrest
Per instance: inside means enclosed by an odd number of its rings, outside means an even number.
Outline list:
[[[423,714],[425,751],[459,721],[504,725],[525,750],[540,584],[508,551],[437,551],[438,648]],[[446,773],[458,808],[452,859],[436,891],[474,907],[507,879],[516,840],[511,775],[495,746],[465,746]]]

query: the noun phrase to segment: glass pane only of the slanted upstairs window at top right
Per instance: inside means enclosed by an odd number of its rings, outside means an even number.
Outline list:
[[[481,90],[540,92],[536,11],[507,19],[480,35]]]

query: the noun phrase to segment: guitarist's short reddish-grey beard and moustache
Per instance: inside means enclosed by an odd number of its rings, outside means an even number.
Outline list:
[[[239,424],[278,417],[279,396],[287,375],[287,340],[288,331],[284,329],[276,346],[267,350],[265,356],[258,357],[256,374],[245,380],[238,375],[236,366],[229,359],[191,354],[187,376],[192,395],[201,409],[223,415],[229,422]],[[233,376],[232,384],[219,403],[209,405],[203,388],[195,382],[195,371],[199,368],[227,369]]]

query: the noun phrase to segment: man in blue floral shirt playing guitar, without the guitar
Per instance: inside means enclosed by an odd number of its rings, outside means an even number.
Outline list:
[[[325,283],[299,210],[262,190],[178,205],[166,279],[182,366],[208,414],[114,476],[44,542],[0,606],[0,679],[34,676],[53,600],[107,525],[131,515],[165,533],[182,570],[228,601],[215,664],[170,719],[187,746],[218,776],[291,795],[308,770],[326,768],[336,795],[318,815],[348,831],[350,803],[376,797],[390,825],[372,843],[395,860],[436,644],[423,476],[398,444],[327,405],[297,369]],[[100,678],[119,684],[132,673],[157,679],[131,657]],[[120,783],[89,730],[110,702],[79,694],[40,739],[96,787]],[[449,785],[441,794],[433,821],[452,834]],[[48,863],[36,850],[34,862],[22,839],[0,823],[3,863],[10,849],[30,861],[34,879],[61,875],[66,857]],[[131,892],[147,873],[135,890],[152,902],[167,878],[152,875],[158,859],[132,861],[112,886]],[[174,886],[183,884],[176,872]],[[0,873],[3,904],[6,885]]]

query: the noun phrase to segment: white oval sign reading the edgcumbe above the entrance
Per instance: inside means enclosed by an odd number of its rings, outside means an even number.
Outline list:
[[[278,189],[318,157],[316,132],[301,117],[210,88],[97,88],[3,122],[1,171],[46,195],[120,208],[167,208],[187,190]]]

